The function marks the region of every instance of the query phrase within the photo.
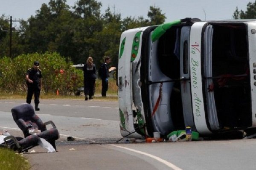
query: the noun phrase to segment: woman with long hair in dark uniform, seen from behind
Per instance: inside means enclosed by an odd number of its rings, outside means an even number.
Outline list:
[[[93,64],[93,58],[88,57],[86,64],[83,68],[84,71],[84,95],[85,100],[93,99],[94,94],[94,85],[95,85],[95,79],[96,79],[96,66]]]

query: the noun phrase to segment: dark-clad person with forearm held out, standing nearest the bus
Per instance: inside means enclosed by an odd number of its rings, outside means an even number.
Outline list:
[[[108,91],[108,77],[109,77],[109,72],[115,70],[115,67],[108,67],[108,64],[111,62],[110,57],[105,57],[105,62],[102,64],[102,69],[101,69],[101,74],[100,78],[102,79],[102,97],[107,96],[107,91]]]

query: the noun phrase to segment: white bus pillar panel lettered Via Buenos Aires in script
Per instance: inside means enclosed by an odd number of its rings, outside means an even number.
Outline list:
[[[201,74],[201,36],[204,24],[206,22],[194,23],[190,31],[190,81],[195,127],[201,134],[210,134],[205,116]]]

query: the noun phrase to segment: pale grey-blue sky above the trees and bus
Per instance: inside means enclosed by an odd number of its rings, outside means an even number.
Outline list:
[[[247,4],[254,0],[97,0],[102,3],[102,14],[110,7],[112,12],[120,13],[122,18],[139,17],[148,18],[149,6],[162,10],[166,22],[185,17],[199,18],[201,20],[227,20],[233,18],[233,13],[239,10],[247,11]],[[74,6],[77,0],[67,0],[69,6]],[[12,20],[27,20],[35,16],[36,10],[49,0],[0,0],[0,14],[12,16]],[[14,23],[15,24],[15,23]]]

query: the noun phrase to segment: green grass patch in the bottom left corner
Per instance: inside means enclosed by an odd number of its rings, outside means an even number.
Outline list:
[[[22,154],[0,148],[0,170],[29,170],[30,164]]]

